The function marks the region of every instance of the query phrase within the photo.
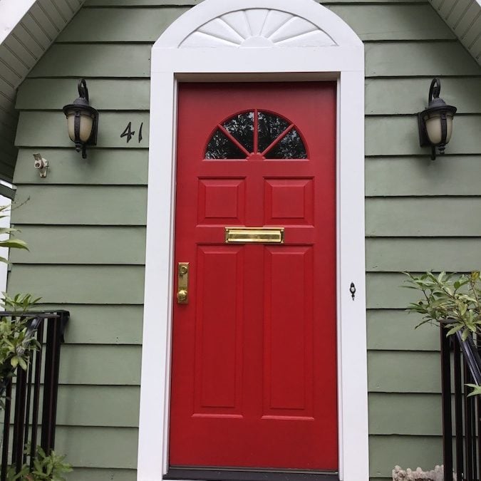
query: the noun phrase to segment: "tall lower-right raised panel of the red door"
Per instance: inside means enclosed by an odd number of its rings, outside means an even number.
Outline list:
[[[263,417],[312,420],[312,247],[268,247],[264,259]]]

